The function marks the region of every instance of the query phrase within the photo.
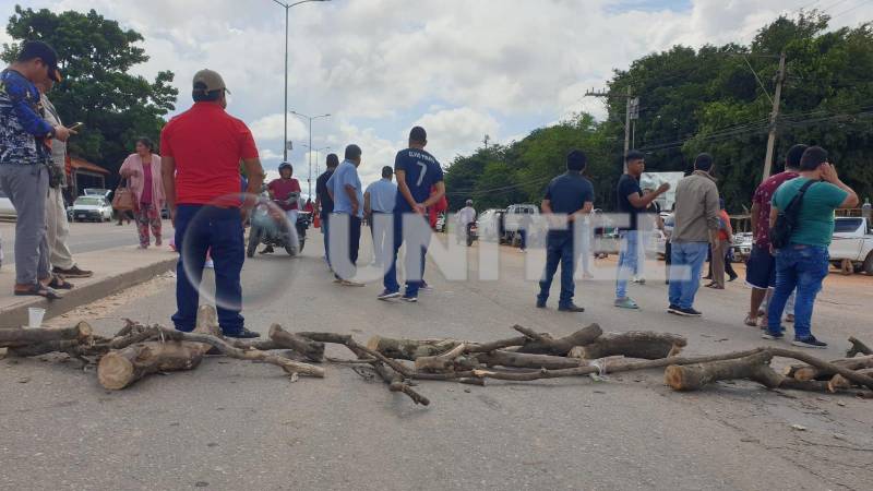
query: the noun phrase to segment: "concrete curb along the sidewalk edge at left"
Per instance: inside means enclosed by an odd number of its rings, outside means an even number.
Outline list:
[[[108,295],[147,282],[176,267],[177,258],[151,263],[123,273],[100,278],[86,285],[76,286],[64,291],[60,300],[48,301],[34,297],[33,300],[16,303],[8,308],[0,308],[0,328],[21,327],[27,325],[27,309],[41,307],[46,309],[45,319],[56,318],[81,306],[100,300]]]

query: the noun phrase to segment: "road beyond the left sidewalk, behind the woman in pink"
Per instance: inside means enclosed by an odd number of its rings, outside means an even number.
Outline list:
[[[169,220],[164,220],[164,228],[167,232],[172,232]],[[15,260],[14,240],[15,224],[11,221],[0,221],[0,239],[3,241],[3,262],[12,264]],[[82,252],[101,251],[104,249],[131,246],[139,242],[136,228],[133,224],[125,224],[121,227],[115,221],[111,223],[72,223],[70,224],[70,239],[68,244],[73,254]],[[87,264],[81,265],[83,268],[93,268]]]

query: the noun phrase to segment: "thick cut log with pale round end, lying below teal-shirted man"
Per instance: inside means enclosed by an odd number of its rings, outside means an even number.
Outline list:
[[[776,388],[784,376],[773,370],[773,354],[762,351],[733,360],[713,361],[695,366],[671,364],[663,372],[665,382],[673,391],[697,391],[719,380],[748,379],[768,388]]]

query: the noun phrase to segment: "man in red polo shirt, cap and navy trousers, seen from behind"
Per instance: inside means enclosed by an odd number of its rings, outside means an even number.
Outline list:
[[[210,251],[222,332],[228,337],[258,337],[244,327],[240,315],[239,275],[246,252],[242,221],[261,191],[264,169],[251,131],[225,112],[226,92],[218,73],[199,71],[192,92],[194,105],[160,132],[164,191],[179,251],[172,322],[179,331],[194,330],[203,264]],[[239,196],[240,160],[249,177],[243,200]]]

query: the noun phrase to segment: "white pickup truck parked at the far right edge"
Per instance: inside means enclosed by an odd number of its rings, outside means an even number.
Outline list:
[[[873,233],[866,218],[838,216],[834,223],[834,240],[827,251],[830,264],[844,274],[873,275]]]

